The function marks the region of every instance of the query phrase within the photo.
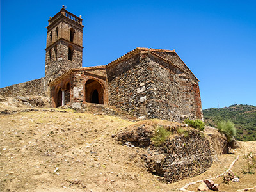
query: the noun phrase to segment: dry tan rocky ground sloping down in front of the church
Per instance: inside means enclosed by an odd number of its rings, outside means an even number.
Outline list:
[[[116,141],[118,132],[138,122],[24,102],[0,98],[0,191],[179,191],[220,175],[239,155],[232,170],[240,182],[223,177],[214,182],[220,191],[256,186],[255,164],[248,164],[256,142],[241,142],[232,153],[215,156],[201,175],[166,184],[147,171],[143,148]],[[197,191],[199,185],[187,189]]]

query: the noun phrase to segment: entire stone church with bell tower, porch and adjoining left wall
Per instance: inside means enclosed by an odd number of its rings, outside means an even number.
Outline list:
[[[65,8],[50,17],[45,77],[1,88],[0,95],[22,89],[51,97],[54,108],[95,103],[141,119],[202,120],[199,80],[175,50],[136,48],[107,65],[82,67],[82,22]]]

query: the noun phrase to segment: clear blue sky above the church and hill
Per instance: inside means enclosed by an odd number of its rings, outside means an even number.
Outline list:
[[[82,15],[83,67],[175,49],[200,80],[203,109],[256,106],[256,1],[246,0],[1,0],[0,87],[44,77],[45,27],[62,4]]]

